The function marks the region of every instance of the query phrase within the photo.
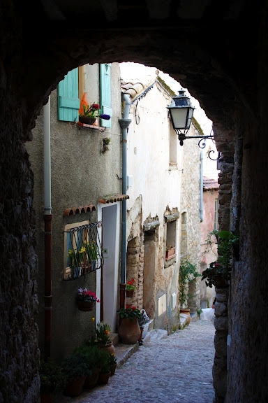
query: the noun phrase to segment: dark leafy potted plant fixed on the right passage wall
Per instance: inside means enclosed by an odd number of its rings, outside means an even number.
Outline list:
[[[202,280],[205,280],[207,287],[216,288],[228,287],[232,271],[232,254],[237,253],[239,247],[239,236],[230,231],[211,231],[218,243],[218,257],[215,262],[209,263],[209,267],[202,271]],[[209,238],[208,238],[209,244]]]

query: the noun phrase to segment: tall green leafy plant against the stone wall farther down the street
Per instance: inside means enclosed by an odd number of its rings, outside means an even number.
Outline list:
[[[196,270],[196,265],[188,261],[187,257],[181,260],[179,267],[179,305],[183,308],[188,299],[188,283],[191,283],[201,274]]]

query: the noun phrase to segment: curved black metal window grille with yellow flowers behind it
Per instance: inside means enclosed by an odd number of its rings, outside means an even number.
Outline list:
[[[103,267],[103,252],[98,236],[101,222],[73,227],[65,231],[66,237],[66,268],[69,269],[68,280],[84,276]]]

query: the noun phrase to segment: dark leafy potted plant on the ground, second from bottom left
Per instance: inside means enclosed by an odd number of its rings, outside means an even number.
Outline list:
[[[61,366],[68,379],[64,395],[69,397],[81,395],[84,381],[87,376],[91,375],[87,354],[82,351],[74,351],[73,354],[64,358]]]

